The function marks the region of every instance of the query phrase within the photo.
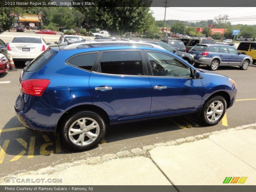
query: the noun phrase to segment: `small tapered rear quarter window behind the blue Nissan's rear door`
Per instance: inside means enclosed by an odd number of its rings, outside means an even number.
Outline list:
[[[75,55],[72,58],[70,58],[67,61],[67,63],[75,67],[91,71],[92,66],[96,60],[97,54],[98,52]]]

